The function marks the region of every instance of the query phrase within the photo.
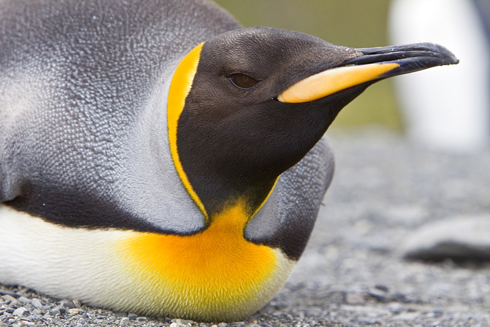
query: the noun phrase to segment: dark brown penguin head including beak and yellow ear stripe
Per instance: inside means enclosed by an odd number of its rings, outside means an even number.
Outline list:
[[[173,160],[203,212],[217,213],[242,196],[253,211],[370,84],[456,62],[431,44],[352,49],[267,27],[220,34],[174,73]]]

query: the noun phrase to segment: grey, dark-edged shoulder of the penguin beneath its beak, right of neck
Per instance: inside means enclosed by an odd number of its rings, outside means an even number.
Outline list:
[[[290,259],[298,260],[333,173],[333,152],[323,137],[299,163],[282,173],[264,206],[247,225],[245,238],[280,248]]]

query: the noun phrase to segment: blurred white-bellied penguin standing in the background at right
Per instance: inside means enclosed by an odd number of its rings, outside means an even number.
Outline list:
[[[394,81],[412,140],[451,152],[489,147],[489,15],[488,0],[392,1],[392,43],[437,42],[460,59],[454,69],[425,70]]]

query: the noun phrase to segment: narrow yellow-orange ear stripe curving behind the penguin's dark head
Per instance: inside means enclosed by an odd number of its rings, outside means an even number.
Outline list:
[[[182,163],[179,159],[177,151],[177,123],[184,110],[185,99],[191,91],[194,76],[196,75],[197,65],[199,64],[199,57],[201,54],[202,46],[204,42],[191,50],[184,59],[177,66],[177,69],[173,73],[172,82],[170,84],[168,102],[167,102],[167,124],[169,127],[169,143],[170,152],[172,153],[173,164],[182,181],[182,184],[186,188],[187,192],[191,195],[192,199],[196,203],[197,207],[202,211],[207,220],[209,220],[208,214],[204,209],[204,205],[196,194],[196,191],[192,188],[189,179],[187,178]]]

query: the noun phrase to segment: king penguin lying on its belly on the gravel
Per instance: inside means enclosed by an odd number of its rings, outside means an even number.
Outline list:
[[[204,0],[1,1],[0,282],[244,319],[304,250],[339,111],[457,62],[434,44],[242,28]]]

